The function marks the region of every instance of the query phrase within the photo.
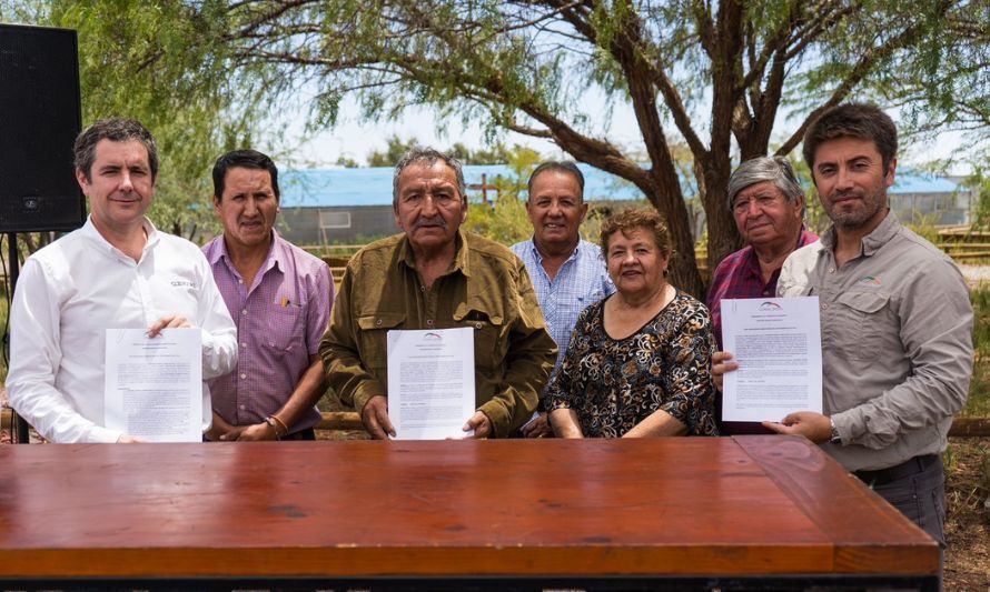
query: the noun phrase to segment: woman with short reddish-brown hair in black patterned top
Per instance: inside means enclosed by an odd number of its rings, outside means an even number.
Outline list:
[[[577,319],[547,391],[557,437],[717,434],[711,318],[667,283],[671,250],[655,210],[626,210],[602,225],[602,253],[618,291]]]

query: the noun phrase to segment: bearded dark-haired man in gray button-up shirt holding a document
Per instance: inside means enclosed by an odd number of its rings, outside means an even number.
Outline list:
[[[897,129],[870,104],[826,111],[804,159],[832,228],[794,251],[780,295],[816,295],[824,414],[765,423],[819,442],[944,544],[939,454],[972,375],[973,313],[952,260],[890,211]]]

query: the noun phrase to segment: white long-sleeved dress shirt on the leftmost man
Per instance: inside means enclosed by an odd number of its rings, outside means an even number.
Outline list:
[[[212,412],[206,379],[237,363],[237,330],[209,264],[191,242],[145,220],[141,260],[107,242],[92,220],[24,263],[10,310],[10,405],[52,442],[116,442],[103,427],[106,329],[147,329],[185,317],[202,329],[202,418]]]

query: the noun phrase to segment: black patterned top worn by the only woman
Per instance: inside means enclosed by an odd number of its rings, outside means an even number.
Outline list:
[[[621,438],[657,410],[687,425],[689,435],[717,435],[705,305],[679,290],[642,329],[618,340],[605,332],[604,310],[602,300],[577,318],[547,409],[573,409],[586,438]]]

